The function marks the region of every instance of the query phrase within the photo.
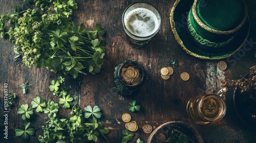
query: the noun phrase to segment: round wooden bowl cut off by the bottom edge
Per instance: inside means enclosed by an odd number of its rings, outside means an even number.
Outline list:
[[[185,122],[172,121],[172,122],[164,123],[164,124],[160,125],[159,127],[157,127],[151,133],[150,137],[148,137],[147,143],[159,142],[156,139],[156,136],[159,133],[163,133],[166,136],[168,134],[168,131],[172,131],[173,129],[176,129],[176,130],[181,131],[182,133],[186,134],[189,137],[189,139],[193,140],[194,142],[199,142],[199,143],[204,142],[202,136],[196,130],[195,127],[188,125]],[[167,139],[167,137],[166,137],[166,139]]]

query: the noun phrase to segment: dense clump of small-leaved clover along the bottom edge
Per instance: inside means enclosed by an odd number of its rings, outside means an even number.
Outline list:
[[[79,106],[73,106],[71,114],[73,116],[70,119],[60,116],[50,118],[48,125],[42,126],[44,135],[40,135],[38,140],[40,142],[89,142],[97,141],[99,135],[105,138],[104,134],[109,133],[109,129],[97,122],[97,118],[93,116],[84,118]]]

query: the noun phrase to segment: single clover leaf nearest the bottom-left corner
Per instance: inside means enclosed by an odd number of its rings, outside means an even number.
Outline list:
[[[34,128],[28,128],[30,123],[25,124],[25,130],[22,129],[15,129],[15,135],[16,136],[22,136],[23,140],[29,139],[29,135],[35,134]]]

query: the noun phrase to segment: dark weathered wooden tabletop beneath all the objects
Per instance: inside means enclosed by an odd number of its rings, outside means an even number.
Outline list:
[[[183,121],[194,126],[205,142],[253,142],[256,140],[256,131],[247,127],[234,109],[232,89],[226,94],[227,112],[223,120],[207,125],[196,125],[189,120],[186,113],[186,104],[191,97],[200,93],[216,93],[222,88],[222,81],[239,78],[240,75],[247,73],[250,66],[255,65],[256,3],[253,0],[246,1],[251,19],[247,51],[231,56],[229,60],[223,59],[228,68],[221,71],[217,69],[217,63],[220,60],[198,59],[186,54],[178,45],[169,21],[169,12],[175,1],[147,1],[160,10],[162,27],[145,47],[134,49],[125,39],[121,21],[124,9],[133,2],[138,1],[77,0],[78,9],[74,12],[74,20],[77,23],[84,23],[90,29],[94,29],[95,23],[101,23],[106,31],[106,36],[103,37],[106,41],[104,64],[101,72],[94,76],[79,75],[77,79],[73,79],[61,73],[54,74],[45,67],[28,68],[22,61],[14,61],[14,44],[0,39],[0,136],[2,140],[0,142],[39,142],[37,138],[38,135],[42,135],[41,126],[48,121],[48,116],[44,113],[36,113],[30,120],[30,126],[36,129],[36,133],[28,141],[23,141],[15,136],[14,132],[15,128],[24,127],[17,109],[22,104],[30,105],[33,98],[37,96],[47,101],[58,102],[58,98],[53,97],[49,90],[50,81],[56,80],[58,76],[65,77],[65,86],[81,109],[87,105],[97,105],[101,108],[101,122],[110,129],[110,133],[106,135],[110,142],[122,140],[122,130],[125,129],[125,123],[121,119],[123,113],[130,113],[133,121],[136,121],[139,126],[135,132],[134,142],[137,138],[144,142],[147,140],[150,134],[144,133],[141,129],[145,124],[150,124],[155,129],[169,121]],[[15,0],[0,0],[0,4],[0,13],[13,12],[15,5],[28,7],[22,1]],[[124,60],[130,59],[144,66],[150,80],[144,83],[137,96],[122,97],[113,92],[114,68]],[[179,65],[174,67],[174,74],[170,76],[170,79],[163,80],[159,70],[167,66],[170,60],[178,60]],[[190,75],[188,81],[182,81],[180,78],[184,71]],[[8,139],[3,136],[5,83],[8,84],[9,92],[16,93],[18,97],[14,102],[14,108],[8,113]],[[32,84],[26,94],[20,87],[23,83]],[[130,112],[128,110],[131,100],[137,100],[137,103],[141,105],[140,111]],[[68,117],[69,113],[70,109],[60,109],[60,114],[63,116]],[[105,142],[105,140],[99,138],[98,142]]]

